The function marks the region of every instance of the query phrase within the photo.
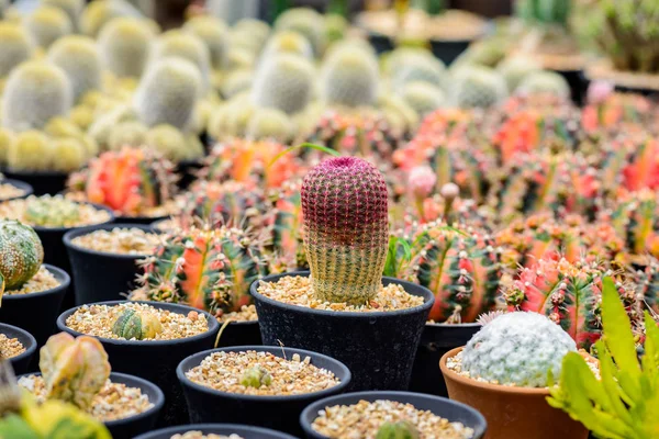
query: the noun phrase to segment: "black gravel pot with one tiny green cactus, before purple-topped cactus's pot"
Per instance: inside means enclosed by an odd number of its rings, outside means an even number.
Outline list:
[[[223,348],[187,358],[177,369],[191,423],[236,421],[301,434],[310,403],[343,392],[350,372],[315,352],[279,347]]]

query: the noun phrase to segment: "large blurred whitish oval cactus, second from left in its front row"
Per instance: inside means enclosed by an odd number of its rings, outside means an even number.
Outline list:
[[[194,65],[180,58],[161,59],[142,78],[135,92],[135,111],[147,126],[169,124],[183,131],[192,122],[201,89]]]

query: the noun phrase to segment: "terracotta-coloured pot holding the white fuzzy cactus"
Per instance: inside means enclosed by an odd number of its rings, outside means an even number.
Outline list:
[[[442,357],[448,396],[479,410],[488,421],[484,439],[587,439],[588,430],[566,413],[549,406],[547,389],[512,387],[461,376],[446,367],[446,360],[462,348]]]

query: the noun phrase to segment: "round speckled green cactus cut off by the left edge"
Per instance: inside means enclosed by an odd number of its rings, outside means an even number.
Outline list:
[[[18,221],[0,221],[0,293],[27,282],[44,261],[41,239],[32,227]]]

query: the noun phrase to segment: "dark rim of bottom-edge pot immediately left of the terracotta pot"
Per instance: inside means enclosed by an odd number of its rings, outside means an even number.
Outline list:
[[[306,437],[309,437],[309,438],[326,438],[326,436],[322,436],[321,434],[319,434],[317,431],[315,431],[314,429],[311,428],[311,423],[313,421],[313,419],[315,419],[317,417],[319,410],[321,410],[330,405],[348,404],[348,402],[346,399],[357,399],[357,401],[365,399],[365,401],[371,402],[371,401],[383,399],[383,398],[403,402],[403,403],[410,401],[411,398],[426,399],[426,401],[438,402],[442,404],[457,406],[461,410],[463,410],[466,413],[470,413],[472,416],[474,416],[479,420],[479,423],[478,423],[479,425],[476,425],[476,426],[466,425],[466,427],[473,428],[473,437],[474,438],[482,438],[487,430],[487,427],[488,427],[488,421],[485,420],[485,417],[480,412],[478,412],[476,408],[470,407],[467,404],[462,404],[457,401],[449,399],[449,398],[446,398],[443,396],[435,396],[435,395],[429,395],[429,394],[425,394],[425,393],[396,392],[396,391],[353,392],[353,393],[344,393],[343,395],[334,395],[334,396],[326,397],[324,399],[315,401],[315,402],[311,403],[310,405],[308,405],[300,414],[300,425],[302,426],[302,430],[304,430],[304,434],[306,435]],[[440,413],[435,413],[435,412],[433,412],[433,413],[437,416],[444,417],[444,415],[442,415]],[[312,419],[312,420],[308,421],[308,418]],[[453,420],[448,419],[448,421],[453,421]]]

